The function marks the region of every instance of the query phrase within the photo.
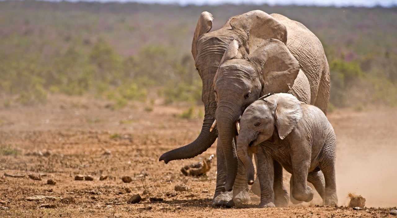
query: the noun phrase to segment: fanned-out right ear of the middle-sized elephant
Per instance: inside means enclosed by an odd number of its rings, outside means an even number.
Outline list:
[[[300,69],[287,46],[274,38],[260,44],[248,59],[262,72],[262,93],[288,92]]]

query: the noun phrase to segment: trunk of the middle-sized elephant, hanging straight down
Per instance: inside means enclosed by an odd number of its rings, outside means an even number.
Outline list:
[[[222,110],[219,107],[218,110]],[[221,113],[216,116],[218,125],[218,146],[222,146],[226,161],[226,182],[225,190],[231,191],[237,176],[237,152],[235,141],[233,138],[236,136],[235,131],[235,118],[230,116],[230,113]]]

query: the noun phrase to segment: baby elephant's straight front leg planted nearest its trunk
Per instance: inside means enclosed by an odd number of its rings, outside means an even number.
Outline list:
[[[264,154],[263,149],[258,148],[258,172],[260,183],[260,204],[259,208],[276,207],[274,204],[274,168],[273,159]]]

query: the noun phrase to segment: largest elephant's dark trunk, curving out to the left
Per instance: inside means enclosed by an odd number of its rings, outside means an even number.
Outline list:
[[[217,132],[213,130],[210,132],[210,128],[212,123],[215,120],[215,110],[216,110],[216,101],[213,91],[203,93],[203,101],[205,102],[205,115],[204,121],[202,124],[201,132],[193,142],[185,145],[183,147],[179,147],[177,149],[173,149],[161,155],[159,161],[164,161],[164,163],[168,163],[173,160],[180,159],[188,159],[196,157],[200,155],[204,151],[206,151],[211,145],[215,142],[217,136]],[[206,99],[206,100],[204,100]]]

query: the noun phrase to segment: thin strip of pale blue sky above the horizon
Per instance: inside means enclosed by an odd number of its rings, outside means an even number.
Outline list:
[[[77,1],[77,0],[71,0]],[[300,5],[300,6],[357,6],[357,7],[391,7],[397,6],[397,0],[87,0],[99,2],[141,2],[141,3],[160,3],[160,4],[188,4],[195,5],[218,5],[218,4],[269,4],[274,5]]]

